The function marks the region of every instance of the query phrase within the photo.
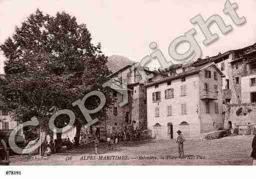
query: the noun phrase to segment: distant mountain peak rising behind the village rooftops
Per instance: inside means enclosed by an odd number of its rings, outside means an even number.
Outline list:
[[[124,68],[127,65],[132,65],[135,62],[120,55],[112,55],[108,57],[107,67],[110,71],[117,72],[118,70]]]

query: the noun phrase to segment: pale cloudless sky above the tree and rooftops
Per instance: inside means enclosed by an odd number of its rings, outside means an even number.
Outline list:
[[[240,17],[245,16],[245,24],[234,24],[223,12],[226,0],[0,0],[0,44],[13,34],[15,25],[19,26],[39,8],[50,15],[66,11],[75,16],[78,23],[87,25],[92,42],[101,42],[102,51],[108,56],[122,55],[139,62],[153,52],[149,44],[154,41],[170,60],[170,43],[192,28],[197,31],[195,38],[202,49],[202,57],[214,56],[256,43],[256,0],[230,1],[238,4],[236,11]],[[190,22],[198,14],[205,20],[218,14],[233,30],[224,35],[212,24],[210,29],[218,33],[219,39],[205,46],[199,26]],[[182,53],[188,48],[185,43],[177,50]],[[4,60],[0,55],[0,73],[3,73]]]

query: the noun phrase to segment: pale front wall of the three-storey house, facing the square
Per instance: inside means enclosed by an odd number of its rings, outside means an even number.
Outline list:
[[[187,95],[180,95],[180,86],[187,85]],[[165,99],[165,90],[174,88],[174,98]],[[161,102],[152,102],[152,93],[161,91]],[[181,114],[181,104],[187,104],[187,114]],[[172,116],[167,116],[167,106],[172,106]],[[155,117],[155,107],[160,108],[160,117]],[[198,120],[198,107],[199,107],[199,75],[195,74],[186,77],[186,81],[182,82],[180,79],[172,81],[170,86],[167,86],[167,82],[159,84],[159,88],[150,86],[147,88],[147,116],[148,116],[148,129],[152,130],[154,135],[153,126],[159,123],[163,126],[163,138],[168,139],[167,123],[173,124],[174,139],[177,137],[177,130],[180,129],[182,122],[190,124],[191,134],[196,136],[200,134],[200,121]],[[153,136],[154,137],[154,136]]]

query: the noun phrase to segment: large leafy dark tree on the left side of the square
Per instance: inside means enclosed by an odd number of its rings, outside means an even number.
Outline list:
[[[39,120],[40,135],[45,135],[48,129],[49,110],[53,106],[73,109],[77,119],[82,120],[79,110],[71,104],[88,92],[103,92],[107,99],[105,107],[112,102],[110,90],[102,88],[110,74],[107,57],[100,44],[91,43],[85,24],[78,24],[66,12],[50,16],[37,9],[21,26],[15,27],[14,34],[0,48],[6,57],[1,85],[3,100],[32,111]],[[93,109],[99,100],[92,96],[85,106]]]

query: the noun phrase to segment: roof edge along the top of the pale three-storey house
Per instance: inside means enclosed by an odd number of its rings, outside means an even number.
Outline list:
[[[179,79],[179,78],[183,78],[183,77],[186,77],[186,76],[190,76],[190,75],[194,75],[194,74],[197,74],[199,73],[201,70],[205,69],[205,68],[208,68],[209,66],[212,66],[221,74],[222,77],[225,77],[225,75],[221,72],[221,70],[216,66],[216,64],[214,62],[212,63],[209,63],[209,64],[206,64],[206,65],[203,65],[203,66],[200,66],[200,67],[195,67],[194,69],[192,70],[189,70],[189,71],[186,71],[186,72],[182,72],[182,73],[179,73],[178,75],[174,75],[174,76],[168,76],[162,80],[159,80],[159,81],[154,81],[152,83],[149,83],[147,85],[145,85],[146,87],[150,87],[150,86],[153,86],[153,85],[157,85],[157,84],[161,84],[161,83],[164,83],[164,82],[167,82],[167,81],[170,81],[170,80],[174,80],[174,79]]]

